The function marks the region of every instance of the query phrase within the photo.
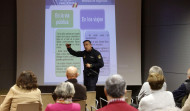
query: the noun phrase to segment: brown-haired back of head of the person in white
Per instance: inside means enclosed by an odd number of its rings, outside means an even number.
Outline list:
[[[159,90],[164,84],[164,76],[158,73],[151,73],[148,76],[148,82],[152,90]]]

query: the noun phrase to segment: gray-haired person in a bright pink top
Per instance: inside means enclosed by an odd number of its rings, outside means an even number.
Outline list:
[[[80,104],[72,103],[75,89],[72,83],[62,82],[55,89],[57,100],[55,104],[48,104],[45,111],[80,111]]]

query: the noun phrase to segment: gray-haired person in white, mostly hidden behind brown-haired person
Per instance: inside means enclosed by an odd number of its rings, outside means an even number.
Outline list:
[[[158,66],[152,66],[150,69],[149,69],[149,74],[151,73],[157,73],[157,74],[160,74],[160,75],[163,75],[163,71],[160,67]],[[161,88],[161,90],[164,90],[166,91],[166,83],[164,82],[164,85],[163,87]],[[140,101],[144,96],[148,96],[149,94],[151,94],[151,89],[150,89],[150,85],[148,82],[145,82],[142,87],[141,87],[141,90],[138,94],[138,101]]]

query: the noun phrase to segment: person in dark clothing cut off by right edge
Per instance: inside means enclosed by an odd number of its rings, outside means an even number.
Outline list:
[[[174,100],[176,106],[181,108],[183,106],[183,100],[189,96],[190,93],[190,68],[187,71],[187,80],[181,84],[181,86],[173,91]]]

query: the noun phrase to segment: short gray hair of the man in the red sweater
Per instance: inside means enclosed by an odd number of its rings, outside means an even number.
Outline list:
[[[120,98],[125,95],[126,82],[122,76],[115,74],[106,80],[105,89],[109,96]]]

